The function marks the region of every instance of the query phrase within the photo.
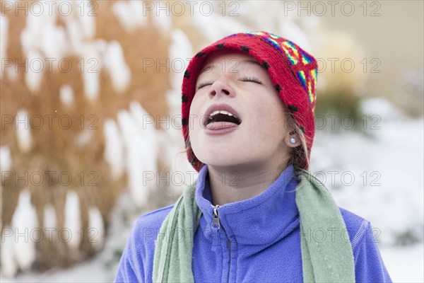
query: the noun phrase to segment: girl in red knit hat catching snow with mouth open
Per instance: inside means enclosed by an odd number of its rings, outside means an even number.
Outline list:
[[[307,169],[317,62],[271,33],[204,48],[182,83],[199,178],[141,216],[116,282],[391,282],[370,222]]]

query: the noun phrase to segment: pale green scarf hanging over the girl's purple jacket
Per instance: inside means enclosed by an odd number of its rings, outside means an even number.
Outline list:
[[[346,225],[336,202],[310,172],[302,170],[298,178],[295,201],[300,214],[303,281],[355,282],[351,243],[341,236]],[[187,187],[160,226],[153,258],[153,282],[194,282],[193,238],[186,235],[193,229],[194,236],[199,226],[201,210],[195,192],[195,185]],[[326,240],[314,241],[305,236],[314,231],[326,231]],[[329,231],[333,232],[331,236]]]

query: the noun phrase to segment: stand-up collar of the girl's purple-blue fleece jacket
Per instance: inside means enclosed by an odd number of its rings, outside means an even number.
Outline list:
[[[220,206],[220,227],[228,238],[241,244],[265,245],[278,241],[299,224],[295,203],[297,185],[298,178],[293,166],[289,165],[259,195]],[[201,168],[196,181],[196,204],[203,212],[199,226],[204,237],[211,241],[213,204],[207,165]]]

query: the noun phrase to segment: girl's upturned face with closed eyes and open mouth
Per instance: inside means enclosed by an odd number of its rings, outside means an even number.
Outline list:
[[[216,110],[227,112],[213,115]],[[253,57],[216,52],[206,59],[189,117],[199,161],[216,168],[275,168],[288,160],[289,146],[298,145],[289,143],[289,129],[283,102]]]

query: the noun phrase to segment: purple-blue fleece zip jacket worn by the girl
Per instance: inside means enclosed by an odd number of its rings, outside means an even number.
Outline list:
[[[288,166],[261,194],[219,207],[220,229],[212,229],[208,168],[206,165],[201,168],[196,182],[196,203],[203,214],[194,233],[194,281],[302,282],[299,212],[294,190],[297,185],[293,166]],[[155,239],[173,205],[136,220],[115,282],[152,282]],[[339,209],[347,229],[343,235],[353,248],[355,281],[391,282],[370,222]],[[308,231],[304,236],[310,241],[320,241],[323,237],[320,232]],[[184,231],[183,236],[192,233]]]

